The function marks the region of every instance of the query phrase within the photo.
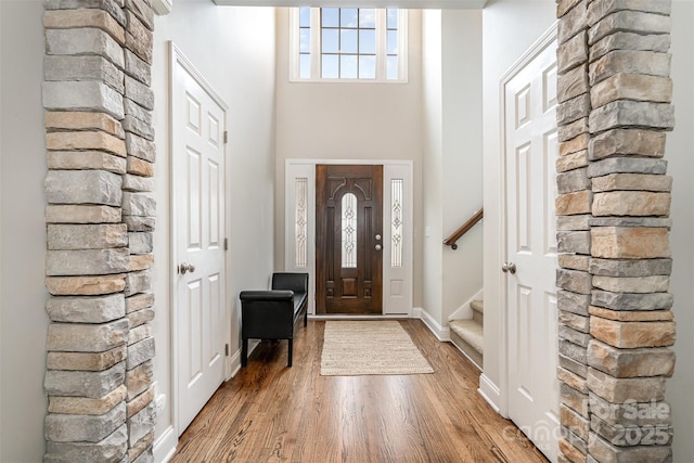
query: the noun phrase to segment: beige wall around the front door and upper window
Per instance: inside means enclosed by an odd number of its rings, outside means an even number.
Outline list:
[[[414,162],[414,294],[422,303],[421,15],[409,12],[407,83],[291,82],[288,10],[278,10],[275,266],[284,268],[284,164],[307,159]]]

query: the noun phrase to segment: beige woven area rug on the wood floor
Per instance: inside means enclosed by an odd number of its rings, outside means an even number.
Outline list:
[[[322,376],[417,373],[434,369],[397,321],[325,322]]]

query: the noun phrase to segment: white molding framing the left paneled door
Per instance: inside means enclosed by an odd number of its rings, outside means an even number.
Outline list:
[[[176,134],[176,130],[174,127],[176,117],[175,117],[175,104],[174,104],[174,98],[175,98],[175,87],[176,87],[176,72],[177,72],[177,66],[181,66],[187,73],[189,73],[191,75],[191,77],[193,77],[193,79],[203,88],[203,90],[205,90],[205,92],[215,101],[215,103],[217,103],[219,105],[219,107],[222,108],[224,117],[223,117],[223,121],[222,121],[222,127],[223,130],[227,131],[229,130],[228,124],[229,124],[229,105],[223,101],[223,99],[221,98],[221,95],[214,89],[214,87],[207,81],[207,79],[204,77],[204,75],[191,63],[191,61],[183,54],[183,52],[174,43],[174,41],[168,41],[168,52],[169,52],[169,89],[168,89],[168,105],[169,105],[169,111],[168,111],[168,129],[169,129],[169,133],[168,133],[168,140],[167,142],[169,143],[169,150],[168,150],[168,154],[169,154],[169,185],[168,185],[168,191],[167,191],[167,195],[169,198],[169,220],[170,220],[170,226],[169,226],[169,261],[168,265],[166,267],[167,271],[168,271],[168,281],[169,281],[169,350],[171,352],[170,355],[170,359],[171,359],[171,363],[170,363],[170,376],[169,376],[169,388],[171,391],[171,403],[170,403],[170,410],[171,410],[171,424],[174,429],[170,429],[174,434],[174,438],[178,441],[178,436],[180,434],[180,429],[179,429],[179,423],[178,423],[178,419],[179,419],[179,399],[180,399],[180,391],[178,389],[178,374],[179,374],[179,368],[178,368],[178,362],[179,362],[179,353],[178,353],[178,340],[179,340],[179,336],[178,336],[178,320],[176,314],[178,313],[179,307],[178,307],[178,300],[177,300],[177,294],[178,294],[178,272],[177,272],[177,262],[178,262],[178,250],[177,250],[177,240],[179,237],[179,232],[177,230],[176,227],[171,226],[175,224],[176,221],[179,218],[179,214],[177,211],[177,207],[174,201],[174,182],[176,179],[176,175],[178,173],[177,168],[176,168],[176,163],[174,163],[174,158],[177,154],[180,153],[176,153],[176,142],[178,141],[178,137]],[[231,184],[231,169],[229,168],[229,144],[224,143],[223,144],[223,152],[224,152],[224,237],[229,239],[229,230],[231,230],[231,223],[230,223],[230,219],[231,219],[231,201],[229,201],[229,185]],[[226,285],[227,288],[230,287],[230,283],[231,283],[231,269],[230,269],[230,259],[229,259],[229,253],[224,253],[224,282],[223,284]],[[230,297],[230,292],[229,291],[224,291],[224,343],[226,344],[230,344],[231,343],[231,318],[232,318],[232,313],[231,313],[231,297]],[[231,362],[230,362],[231,357],[226,357],[224,358],[224,366],[223,366],[223,378],[224,381],[229,380],[232,375],[232,370],[231,370]],[[167,429],[167,433],[169,432],[169,429]]]

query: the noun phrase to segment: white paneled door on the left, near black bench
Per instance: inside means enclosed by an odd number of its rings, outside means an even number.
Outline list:
[[[223,381],[226,112],[181,56],[174,62],[174,345],[180,435]]]

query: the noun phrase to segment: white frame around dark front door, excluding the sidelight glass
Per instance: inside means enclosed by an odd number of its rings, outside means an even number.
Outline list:
[[[414,163],[412,160],[407,159],[285,159],[284,165],[284,270],[285,271],[304,271],[308,272],[311,278],[309,278],[309,306],[308,313],[312,317],[316,316],[316,166],[318,164],[329,164],[329,165],[383,165],[383,177],[384,177],[384,187],[383,187],[383,214],[384,214],[384,243],[386,239],[390,236],[390,228],[389,221],[385,220],[386,213],[388,208],[386,204],[389,204],[390,198],[390,187],[386,184],[387,179],[395,176],[396,172],[398,176],[402,176],[407,181],[409,181],[409,185],[406,185],[404,189],[404,202],[406,207],[403,210],[406,217],[406,241],[407,246],[404,247],[404,254],[402,256],[402,261],[406,263],[402,267],[401,278],[407,281],[407,286],[409,291],[404,296],[404,300],[402,306],[404,309],[399,309],[399,311],[395,312],[393,309],[389,311],[389,305],[387,304],[386,298],[386,282],[389,282],[389,276],[394,273],[390,269],[390,266],[386,265],[386,257],[389,256],[389,250],[383,253],[384,256],[384,266],[383,266],[383,313],[381,316],[368,316],[370,318],[373,317],[413,317],[413,256],[414,256]],[[390,176],[390,177],[389,177]],[[295,236],[295,222],[292,218],[295,216],[294,205],[296,203],[296,192],[295,184],[293,179],[300,177],[306,178],[308,180],[308,197],[307,197],[307,217],[308,217],[308,227],[307,227],[307,243],[308,243],[308,265],[307,267],[296,267],[294,262],[295,258],[295,246],[293,245],[293,237]],[[409,187],[409,188],[408,188]],[[407,219],[409,218],[409,220]],[[386,229],[388,230],[386,232]],[[385,249],[389,249],[388,246],[385,246]],[[388,257],[389,259],[389,257]],[[318,316],[323,317],[323,316]],[[339,317],[339,316],[326,316],[326,317]],[[357,317],[357,316],[354,316]]]

